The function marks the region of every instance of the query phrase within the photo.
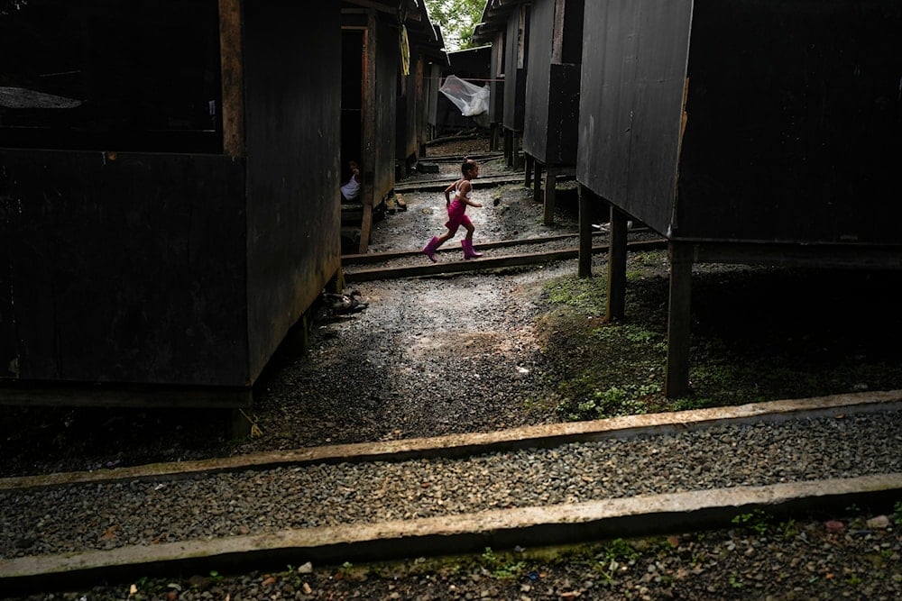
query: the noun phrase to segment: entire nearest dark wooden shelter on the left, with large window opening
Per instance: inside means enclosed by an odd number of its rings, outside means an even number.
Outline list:
[[[3,8],[0,402],[250,405],[340,269],[339,6]]]

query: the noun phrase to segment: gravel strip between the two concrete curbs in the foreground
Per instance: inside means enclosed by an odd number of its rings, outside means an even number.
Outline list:
[[[0,493],[0,557],[894,472],[902,472],[902,412],[721,425],[465,459],[70,485]]]

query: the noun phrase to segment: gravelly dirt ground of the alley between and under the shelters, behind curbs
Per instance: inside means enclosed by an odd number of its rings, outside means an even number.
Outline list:
[[[486,151],[484,139],[452,141],[424,160]],[[441,164],[456,176],[456,160]],[[483,161],[483,177],[504,173],[516,175],[503,159]],[[477,180],[477,248],[575,232],[566,188],[546,226],[528,189]],[[403,196],[408,210],[375,223],[371,250],[418,249],[443,231],[440,192]],[[446,248],[441,260],[458,258],[457,240]],[[571,262],[354,285],[369,307],[320,314],[309,351],[280,350],[255,386],[248,418],[262,435],[232,439],[221,411],[8,407],[0,475],[902,388],[895,272],[695,266],[692,392],[668,399],[666,255],[630,253],[622,323],[603,323],[605,265],[594,258],[593,278],[576,278]],[[445,392],[461,366],[482,379]],[[424,409],[436,397],[452,399],[438,415]]]

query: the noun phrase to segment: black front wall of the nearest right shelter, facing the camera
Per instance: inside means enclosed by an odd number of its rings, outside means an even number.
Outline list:
[[[695,3],[677,235],[899,243],[902,4]]]

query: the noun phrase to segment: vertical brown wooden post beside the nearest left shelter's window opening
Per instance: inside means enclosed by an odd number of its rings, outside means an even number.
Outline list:
[[[223,153],[244,156],[244,68],[241,0],[219,0]]]

